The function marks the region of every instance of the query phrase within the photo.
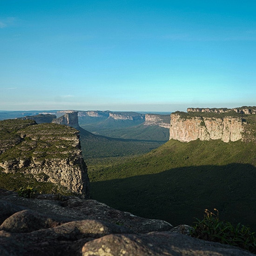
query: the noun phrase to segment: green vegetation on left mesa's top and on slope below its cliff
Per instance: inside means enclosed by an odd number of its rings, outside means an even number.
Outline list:
[[[76,129],[64,125],[36,125],[35,121],[21,119],[0,121],[0,163],[10,170],[5,173],[5,168],[0,168],[0,188],[19,191],[22,196],[33,194],[29,188],[39,193],[74,195],[59,184],[46,182],[43,173],[29,174],[27,168],[32,161],[58,161],[74,155],[74,144],[78,143],[75,134]]]

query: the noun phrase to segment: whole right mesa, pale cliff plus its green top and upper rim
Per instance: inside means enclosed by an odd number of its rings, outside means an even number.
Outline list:
[[[254,109],[188,108],[188,113],[177,111],[171,114],[170,139],[182,142],[197,139],[256,141]]]

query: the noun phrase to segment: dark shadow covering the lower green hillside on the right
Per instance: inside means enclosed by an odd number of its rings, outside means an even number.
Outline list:
[[[250,164],[174,168],[152,175],[91,182],[92,199],[174,226],[202,219],[204,209],[221,220],[256,231],[256,168]]]

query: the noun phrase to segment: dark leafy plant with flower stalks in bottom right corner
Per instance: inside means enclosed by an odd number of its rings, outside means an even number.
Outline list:
[[[196,219],[195,226],[190,235],[206,241],[218,242],[240,247],[256,253],[256,237],[249,227],[238,223],[234,227],[230,222],[219,220],[219,211],[216,214],[205,209],[202,220]]]

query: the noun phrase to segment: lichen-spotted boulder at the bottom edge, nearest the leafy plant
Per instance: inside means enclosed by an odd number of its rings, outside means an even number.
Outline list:
[[[249,256],[247,251],[232,246],[210,243],[193,237],[172,232],[148,234],[111,234],[86,243],[83,256]]]

